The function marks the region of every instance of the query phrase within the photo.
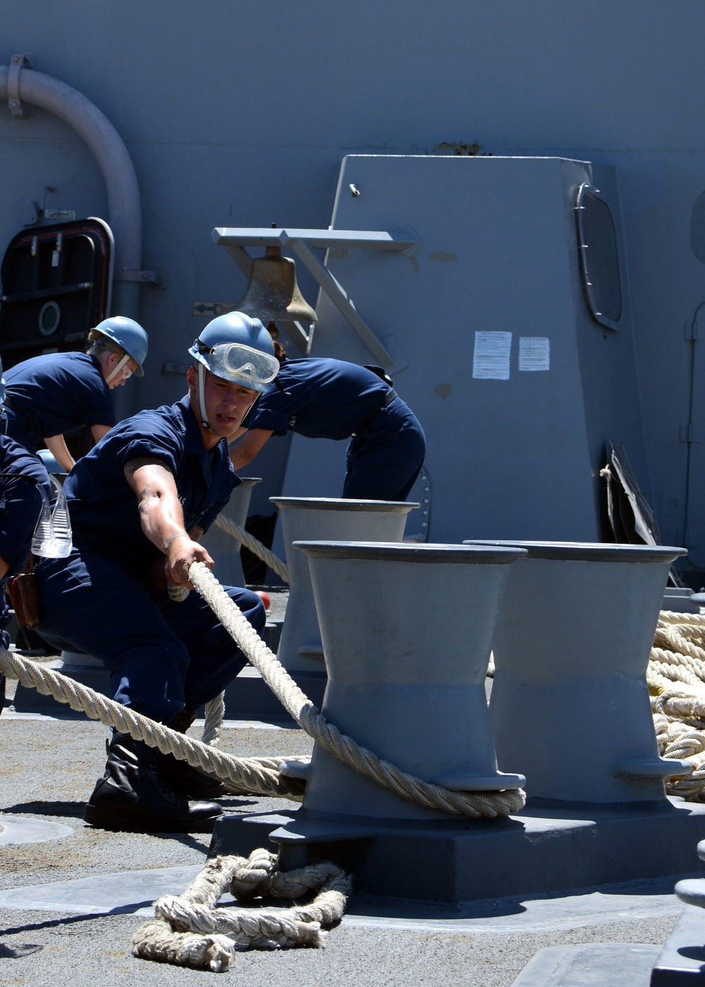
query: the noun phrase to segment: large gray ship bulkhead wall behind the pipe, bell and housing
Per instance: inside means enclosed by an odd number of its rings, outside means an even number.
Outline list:
[[[678,431],[690,404],[683,329],[705,283],[690,247],[692,207],[705,189],[705,9],[699,0],[667,14],[655,0],[586,0],[560,11],[553,0],[452,0],[442,17],[427,2],[409,18],[407,6],[212,0],[174,18],[164,0],[3,4],[0,61],[32,51],[36,69],[109,116],[142,191],[144,266],[169,271],[166,291],[142,289],[150,361],[124,397],[133,408],[178,398],[183,381],[161,368],[184,359],[203,325],[194,302],[242,294],[244,278],[209,231],[327,225],[352,148],[609,163],[620,175],[654,503],[664,540],[677,544],[687,469]],[[23,122],[0,107],[4,245],[22,226],[26,200],[41,201],[46,185],[56,189],[47,205],[106,214],[87,149],[50,114],[30,111]],[[310,279],[299,282],[308,294]],[[705,414],[699,397],[695,412]],[[695,504],[703,493],[698,480]]]

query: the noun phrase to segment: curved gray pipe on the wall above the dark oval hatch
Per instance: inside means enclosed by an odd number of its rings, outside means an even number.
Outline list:
[[[0,65],[0,100],[8,98],[9,68]],[[48,110],[76,131],[98,162],[108,190],[109,223],[116,242],[116,270],[142,266],[142,209],[137,176],[118,131],[98,107],[64,82],[23,68],[20,99]],[[113,311],[130,318],[139,315],[139,284],[118,281]]]

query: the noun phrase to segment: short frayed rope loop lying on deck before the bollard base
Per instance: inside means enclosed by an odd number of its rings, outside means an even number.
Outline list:
[[[286,911],[216,909],[227,889],[238,901],[317,894],[310,905]],[[155,917],[135,932],[132,952],[143,959],[221,972],[238,948],[321,947],[326,936],[322,926],[341,920],[350,891],[350,877],[334,864],[283,873],[267,850],[255,850],[249,860],[215,857],[184,894],[167,894],[154,902]]]

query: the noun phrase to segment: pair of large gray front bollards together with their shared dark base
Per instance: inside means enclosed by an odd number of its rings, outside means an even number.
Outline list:
[[[499,760],[526,775],[527,794],[533,771],[547,788],[509,817],[445,815],[316,744],[307,770],[282,767],[307,779],[301,807],[225,813],[209,856],[270,840],[284,871],[332,860],[353,873],[356,893],[456,903],[692,871],[705,805],[663,797],[663,775],[689,764],[659,758],[644,676],[668,562],[681,550],[570,546],[562,562],[508,567],[490,554],[477,565],[487,544],[300,547],[311,557],[329,722],[425,781],[459,791],[521,784],[498,773]],[[462,553],[473,548],[470,564]],[[499,611],[518,643],[511,675],[507,634],[493,645]],[[483,689],[491,646],[495,737]]]

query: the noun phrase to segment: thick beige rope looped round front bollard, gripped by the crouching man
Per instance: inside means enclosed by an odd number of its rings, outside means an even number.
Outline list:
[[[510,815],[523,806],[525,795],[521,789],[494,793],[453,792],[415,778],[359,746],[352,737],[326,721],[203,563],[194,563],[189,577],[289,715],[317,743],[354,771],[399,797],[452,815],[491,819]],[[300,781],[281,775],[279,766],[283,758],[231,757],[212,745],[193,740],[162,723],[142,717],[65,675],[9,651],[0,650],[0,672],[9,678],[19,679],[25,686],[38,689],[43,695],[53,696],[60,703],[68,703],[72,709],[86,713],[93,720],[116,726],[135,739],[158,747],[162,753],[172,753],[187,760],[192,767],[227,781],[235,791],[294,799],[302,795]],[[250,784],[253,788],[246,788]]]

